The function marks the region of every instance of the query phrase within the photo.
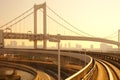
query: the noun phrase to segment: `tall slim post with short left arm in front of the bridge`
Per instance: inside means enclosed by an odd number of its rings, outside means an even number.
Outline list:
[[[57,38],[50,38],[49,41],[58,43],[58,80],[60,80],[60,34],[57,35]]]

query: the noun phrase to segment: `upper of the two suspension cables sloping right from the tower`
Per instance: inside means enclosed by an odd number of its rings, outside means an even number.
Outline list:
[[[86,33],[84,31],[79,30],[77,27],[73,26],[72,24],[70,24],[67,20],[65,20],[64,18],[62,18],[60,15],[58,15],[54,10],[52,10],[49,6],[47,6],[47,8],[52,11],[56,16],[58,16],[61,20],[63,20],[65,23],[67,23],[68,25],[70,25],[71,27],[73,27],[74,29],[76,29],[77,31],[80,31],[88,36],[94,37],[93,35],[90,35],[89,33]]]

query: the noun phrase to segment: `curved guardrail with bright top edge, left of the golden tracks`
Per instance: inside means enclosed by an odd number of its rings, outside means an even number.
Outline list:
[[[91,61],[84,68],[82,68],[80,71],[78,71],[77,73],[73,74],[72,76],[68,77],[65,80],[82,80],[82,79],[88,80],[90,79],[93,76],[91,75],[91,73],[93,74],[94,71],[96,70],[94,59],[92,57],[90,58],[91,58]]]

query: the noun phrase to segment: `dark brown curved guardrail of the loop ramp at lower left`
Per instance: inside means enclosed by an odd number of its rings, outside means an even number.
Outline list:
[[[16,63],[11,63],[11,62],[5,62],[5,61],[0,61],[0,65],[3,67],[9,67],[9,68],[14,68],[14,69],[19,69],[19,70],[29,72],[35,76],[34,80],[39,80],[39,74],[37,70],[35,70],[32,67],[21,65],[21,64],[16,64]]]

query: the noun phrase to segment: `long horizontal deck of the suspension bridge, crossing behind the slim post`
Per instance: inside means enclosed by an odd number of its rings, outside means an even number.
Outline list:
[[[104,42],[109,44],[114,44],[120,46],[120,43],[113,40],[108,40],[98,37],[86,37],[86,36],[65,36],[65,35],[44,35],[44,34],[32,34],[32,33],[4,33],[4,39],[28,39],[30,41],[35,40],[50,40],[51,38],[60,39],[60,40],[84,40],[84,41],[96,41]]]

